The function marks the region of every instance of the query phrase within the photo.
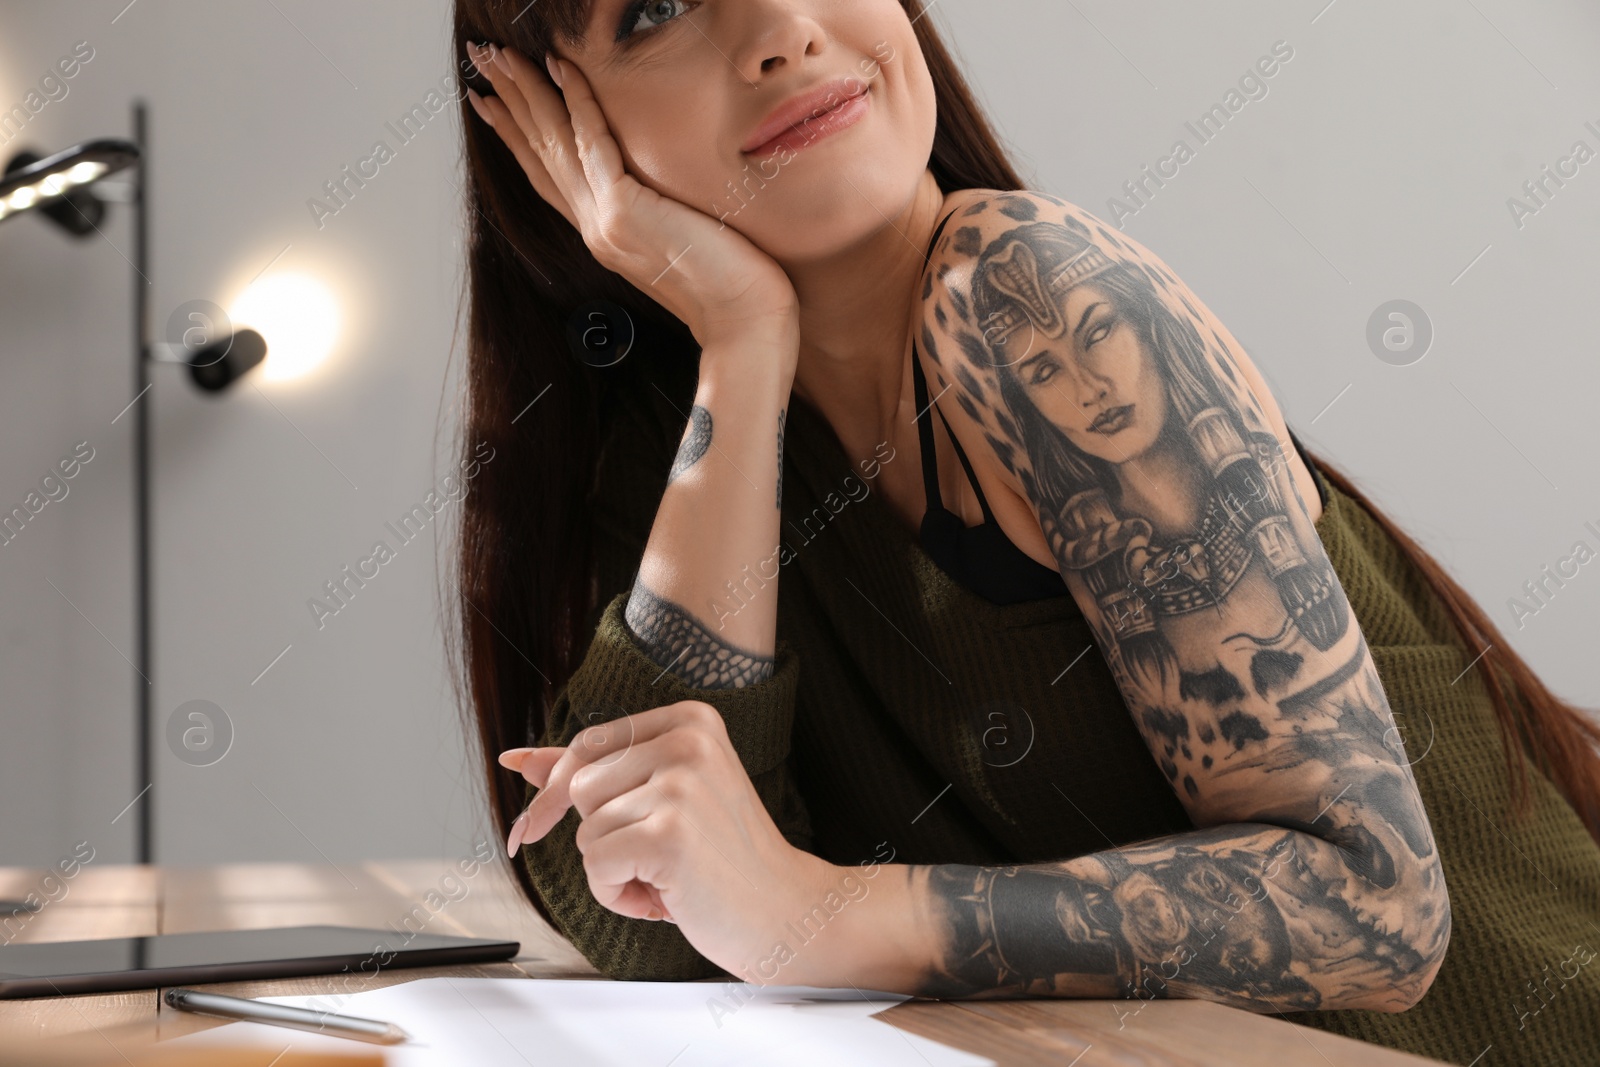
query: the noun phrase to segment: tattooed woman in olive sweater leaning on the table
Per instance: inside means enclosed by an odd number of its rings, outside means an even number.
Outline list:
[[[1600,729],[1158,258],[1021,189],[917,3],[458,0],[456,40],[507,458],[467,686],[597,966],[1600,1048]]]

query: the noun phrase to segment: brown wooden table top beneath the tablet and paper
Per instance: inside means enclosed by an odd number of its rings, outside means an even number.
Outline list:
[[[462,853],[466,856],[466,851]],[[11,941],[80,941],[198,929],[344,925],[387,928],[440,889],[456,872],[467,886],[426,910],[427,933],[510,937],[522,953],[506,963],[384,971],[366,989],[421,977],[562,977],[600,979],[560,934],[550,929],[510,880],[502,862],[461,878],[454,859],[307,865],[227,864],[219,867],[139,867],[91,864],[66,883],[67,893],[27,917],[11,920]],[[43,870],[0,867],[0,897],[38,893]],[[435,901],[440,897],[435,896]],[[19,925],[19,920],[24,920]],[[0,933],[0,939],[6,934]],[[198,985],[237,997],[331,993],[331,977],[275,979]],[[902,1030],[968,1049],[998,1064],[1096,1065],[1240,1065],[1400,1067],[1438,1061],[1294,1025],[1270,1016],[1195,1000],[1149,1001],[1138,1017],[1118,1025],[1126,1001],[995,1000],[907,1001],[877,1017]],[[133,1064],[179,1062],[146,1059],[149,1045],[194,1030],[226,1025],[173,1011],[160,990],[0,1000],[0,1056],[5,1062]],[[288,1033],[288,1032],[286,1032]],[[381,1048],[350,1041],[352,1054],[376,1057]],[[22,1049],[37,1049],[26,1059]],[[189,1062],[189,1061],[184,1061]],[[214,1054],[206,1061],[222,1062]],[[234,1062],[234,1061],[229,1061]],[[259,1062],[266,1059],[238,1059]],[[328,1057],[283,1057],[277,1067],[330,1062]],[[341,1064],[354,1061],[339,1059]]]

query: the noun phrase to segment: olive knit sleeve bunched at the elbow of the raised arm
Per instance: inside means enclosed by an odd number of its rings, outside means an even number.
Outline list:
[[[595,723],[678,701],[704,701],[722,712],[733,749],[779,832],[795,848],[810,849],[810,817],[787,761],[800,678],[795,649],[779,638],[776,669],[758,683],[698,689],[662,670],[624,617],[666,491],[672,446],[682,437],[683,418],[674,419],[670,411],[640,402],[618,411],[618,432],[606,445],[594,501],[597,573],[606,600],[582,662],[555,697],[539,744],[568,744]],[[536,793],[528,785],[526,800]],[[595,901],[574,845],[578,824],[578,811],[568,809],[544,838],[523,845],[520,853],[560,933],[608,977],[688,981],[725,974],[672,923],[626,918]]]

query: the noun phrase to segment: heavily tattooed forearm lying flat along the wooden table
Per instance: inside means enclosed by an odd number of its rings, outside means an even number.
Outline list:
[[[888,867],[830,945],[829,984],[941,998],[1214,1000],[1402,1011],[1450,913],[1328,840],[1238,822],[1061,862]],[[843,984],[843,981],[838,981]]]

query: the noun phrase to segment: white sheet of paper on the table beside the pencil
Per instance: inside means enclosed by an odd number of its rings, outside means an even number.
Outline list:
[[[872,1064],[994,1067],[872,1016],[906,997],[875,990],[747,982],[605,982],[427,977],[349,997],[261,1000],[394,1022],[411,1035],[381,1048],[395,1067],[714,1067]],[[259,1022],[189,1033],[168,1046],[248,1041],[350,1053],[349,1038]]]

